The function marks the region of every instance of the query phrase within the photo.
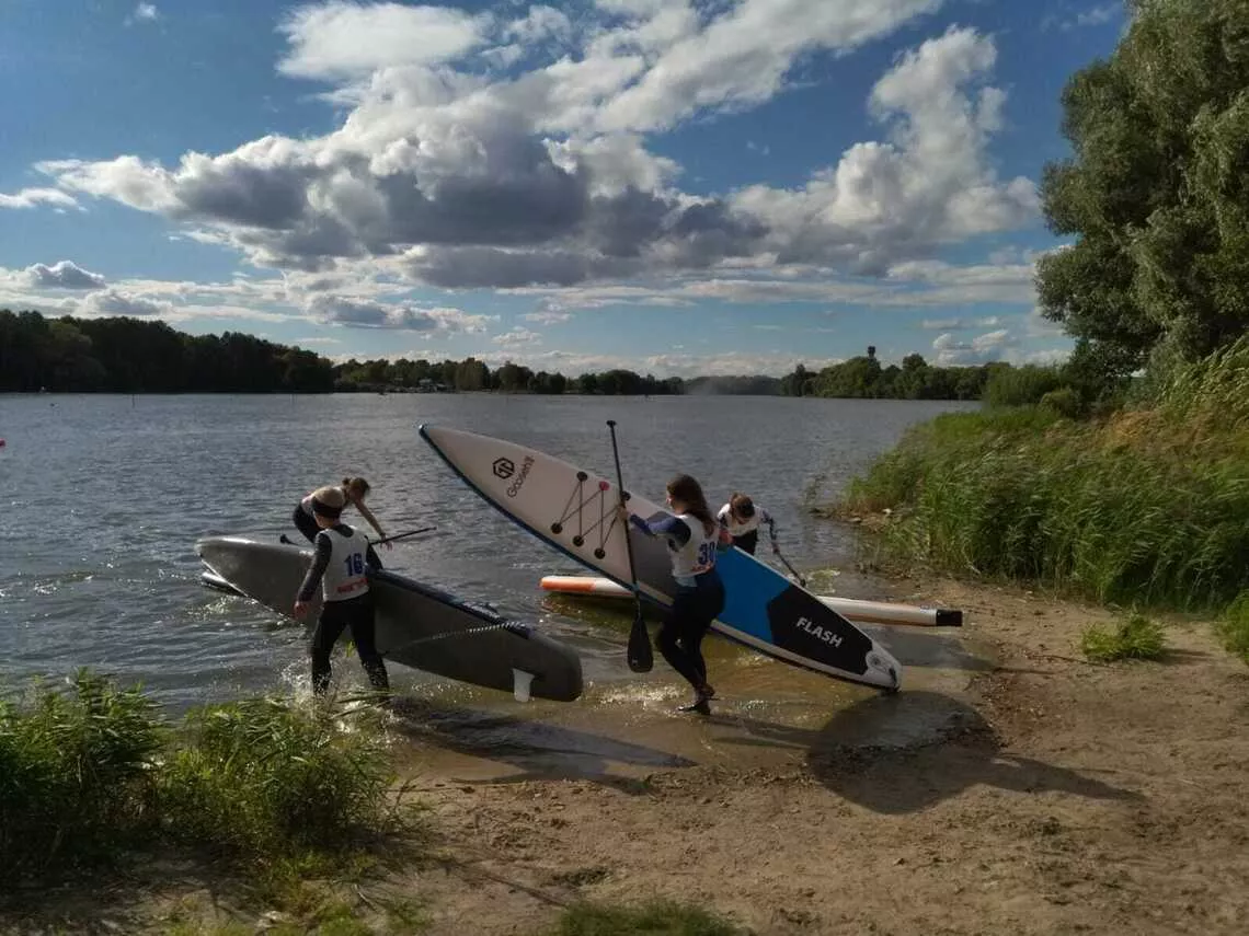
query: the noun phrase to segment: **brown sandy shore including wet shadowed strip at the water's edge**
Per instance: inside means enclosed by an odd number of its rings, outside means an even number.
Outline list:
[[[1207,623],[1164,618],[1163,661],[1095,665],[1075,644],[1104,608],[882,585],[962,608],[965,653],[897,696],[848,688],[831,716],[763,658],[742,669],[776,695],[731,678],[711,719],[668,714],[663,678],[580,708],[405,704],[393,749],[432,857],[356,886],[361,912],[415,900],[407,931],[536,934],[580,900],[658,895],[759,934],[1243,931],[1249,670]],[[127,931],[167,931],[175,906],[190,932],[256,920],[165,877],[140,879]]]

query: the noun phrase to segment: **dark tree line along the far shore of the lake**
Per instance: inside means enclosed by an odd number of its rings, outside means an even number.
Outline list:
[[[778,378],[658,378],[623,368],[577,377],[507,362],[375,359],[333,363],[240,332],[186,334],[131,317],[45,318],[0,310],[0,392],[350,393],[473,392],[603,396],[752,394],[898,399],[979,399],[988,376],[1009,364],[933,367],[919,354],[882,367],[873,348],[821,371],[798,364]]]

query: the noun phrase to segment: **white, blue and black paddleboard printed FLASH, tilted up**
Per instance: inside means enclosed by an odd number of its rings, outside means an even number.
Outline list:
[[[583,565],[629,584],[624,527],[612,482],[512,442],[460,429],[420,427],[421,438],[485,500]],[[629,509],[654,520],[668,512],[626,492]],[[677,592],[667,545],[631,529],[638,590],[669,605]],[[819,598],[741,549],[717,559],[724,610],[712,628],[778,660],[887,690],[902,685],[888,650]]]

